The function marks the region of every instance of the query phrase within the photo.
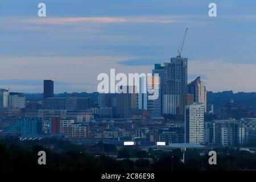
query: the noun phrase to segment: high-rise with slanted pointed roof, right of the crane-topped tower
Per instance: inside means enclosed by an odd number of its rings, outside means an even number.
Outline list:
[[[200,76],[188,84],[188,93],[194,95],[194,102],[200,102],[204,104],[204,112],[207,113],[207,90],[205,89]]]

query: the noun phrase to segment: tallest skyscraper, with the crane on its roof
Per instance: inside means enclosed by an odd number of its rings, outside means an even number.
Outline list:
[[[163,113],[176,114],[180,95],[187,94],[188,59],[172,57],[171,63],[164,63],[166,85],[163,91]]]

